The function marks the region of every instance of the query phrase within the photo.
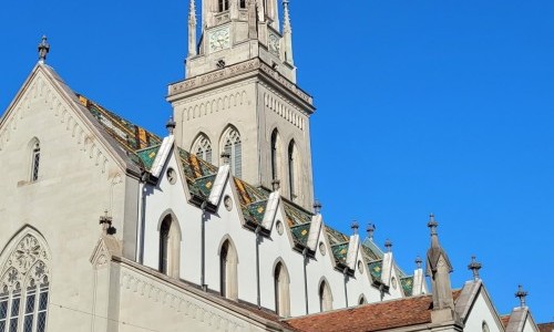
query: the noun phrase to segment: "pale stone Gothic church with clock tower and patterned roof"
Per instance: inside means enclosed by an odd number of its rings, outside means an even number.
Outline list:
[[[289,6],[191,0],[165,137],[75,93],[42,39],[0,117],[0,332],[538,331],[475,259],[451,286],[434,216],[406,269],[325,222]]]

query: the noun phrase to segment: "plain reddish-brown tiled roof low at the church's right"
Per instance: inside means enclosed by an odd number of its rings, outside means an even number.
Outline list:
[[[452,292],[454,301],[460,291]],[[372,332],[431,322],[431,295],[391,300],[356,308],[307,315],[286,322],[306,332]]]

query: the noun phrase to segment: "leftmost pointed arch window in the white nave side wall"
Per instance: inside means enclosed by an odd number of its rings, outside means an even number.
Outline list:
[[[173,278],[179,276],[181,231],[178,224],[167,215],[160,226],[160,272]]]

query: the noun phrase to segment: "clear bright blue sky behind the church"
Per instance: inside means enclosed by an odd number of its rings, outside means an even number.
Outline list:
[[[318,7],[319,4],[319,7]],[[315,96],[316,196],[327,224],[377,225],[411,271],[428,215],[461,287],[472,255],[501,313],[530,292],[554,321],[554,1],[290,3],[299,85]],[[8,1],[0,112],[49,35],[76,92],[161,135],[184,76],[186,0]]]

